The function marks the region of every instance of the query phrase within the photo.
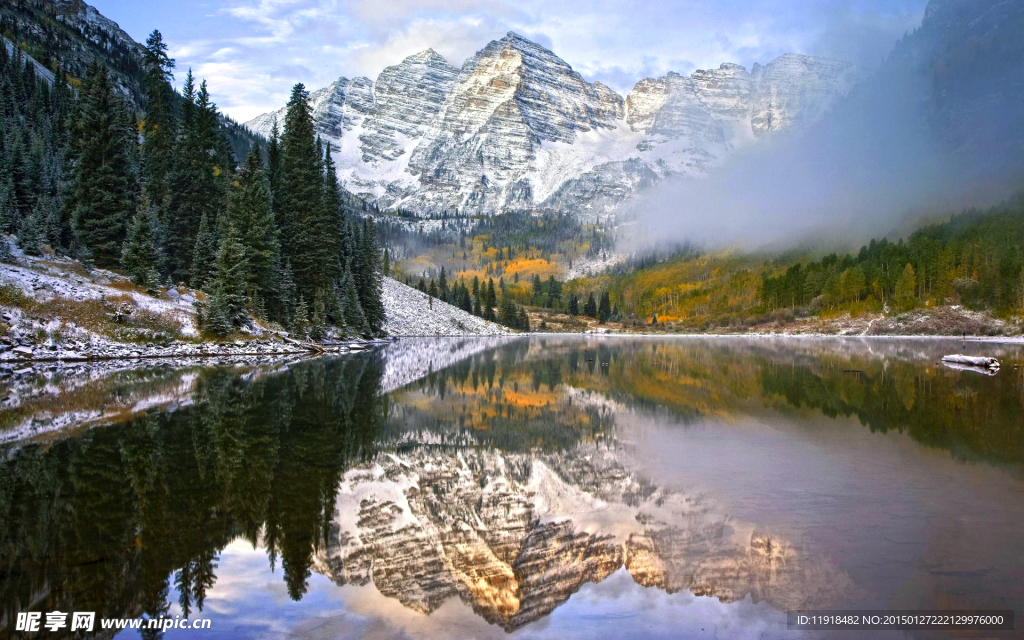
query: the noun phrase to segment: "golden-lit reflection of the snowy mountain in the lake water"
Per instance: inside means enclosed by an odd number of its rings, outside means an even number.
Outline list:
[[[613,449],[566,454],[421,447],[349,471],[316,566],[429,613],[458,596],[512,630],[625,567],[669,592],[824,606],[841,570],[639,478]]]

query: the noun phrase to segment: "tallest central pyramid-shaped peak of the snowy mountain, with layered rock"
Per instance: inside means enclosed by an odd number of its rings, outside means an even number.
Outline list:
[[[561,58],[514,33],[463,65],[442,115],[413,153],[410,171],[424,185],[416,209],[468,206],[483,211],[532,204],[539,151],[572,144],[578,134],[613,129],[623,98],[585,81]]]

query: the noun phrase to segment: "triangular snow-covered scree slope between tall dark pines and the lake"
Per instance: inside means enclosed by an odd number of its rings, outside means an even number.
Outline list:
[[[512,332],[446,302],[384,279],[384,331],[391,336],[505,336]]]

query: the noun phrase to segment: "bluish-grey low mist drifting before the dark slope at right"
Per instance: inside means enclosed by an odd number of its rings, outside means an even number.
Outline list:
[[[929,120],[928,95],[924,75],[880,74],[809,130],[771,134],[707,178],[652,188],[627,209],[642,223],[622,248],[654,239],[748,249],[843,239],[856,248],[1005,198],[1011,181],[950,153]]]

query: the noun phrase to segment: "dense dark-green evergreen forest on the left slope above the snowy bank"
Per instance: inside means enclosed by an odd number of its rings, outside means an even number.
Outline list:
[[[124,269],[148,290],[202,289],[216,335],[250,316],[313,338],[329,326],[379,334],[376,231],[338,184],[305,88],[265,157],[252,145],[239,166],[206,83],[189,71],[180,95],[172,88],[159,32],[143,59],[138,113],[98,60],[83,78],[56,66],[50,79],[0,47],[0,229],[26,253]]]

